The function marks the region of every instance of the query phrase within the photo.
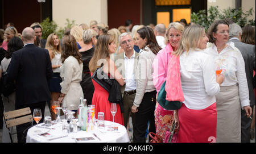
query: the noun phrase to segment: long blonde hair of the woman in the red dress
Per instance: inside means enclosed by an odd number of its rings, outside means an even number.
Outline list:
[[[97,45],[94,50],[93,57],[89,63],[90,72],[94,72],[97,68],[101,67],[103,62],[100,60],[106,60],[110,58],[109,44],[112,43],[113,41],[114,41],[114,36],[109,34],[101,35],[100,37],[98,37]]]

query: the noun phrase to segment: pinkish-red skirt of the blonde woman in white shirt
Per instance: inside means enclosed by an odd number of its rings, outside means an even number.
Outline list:
[[[216,142],[217,110],[216,103],[206,109],[188,109],[184,103],[178,110],[179,132],[177,143]]]

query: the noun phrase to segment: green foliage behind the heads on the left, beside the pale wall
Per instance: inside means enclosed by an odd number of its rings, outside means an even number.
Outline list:
[[[66,28],[71,28],[75,25],[75,20],[70,21],[69,19],[66,19],[66,21],[67,23],[65,23],[65,27],[61,28],[57,26],[54,21],[50,21],[49,18],[44,19],[43,22],[40,23],[43,28],[42,39],[47,39],[53,32],[55,32],[60,39],[63,38]]]

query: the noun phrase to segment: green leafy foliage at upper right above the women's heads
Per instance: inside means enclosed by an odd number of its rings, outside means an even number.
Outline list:
[[[253,8],[245,13],[243,13],[241,8],[231,9],[230,7],[220,12],[220,10],[218,10],[218,6],[210,6],[207,11],[200,10],[198,13],[192,13],[191,22],[200,24],[205,27],[205,30],[209,28],[210,24],[212,24],[214,20],[226,18],[232,19],[234,23],[239,24],[241,27],[244,27],[246,24],[255,26],[254,19],[247,19],[251,15],[253,15]]]

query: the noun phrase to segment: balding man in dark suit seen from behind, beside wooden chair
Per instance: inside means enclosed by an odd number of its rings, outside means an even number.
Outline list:
[[[46,101],[51,99],[48,88],[48,79],[51,78],[52,64],[47,49],[38,48],[34,45],[36,39],[35,31],[27,27],[22,31],[24,48],[13,53],[7,74],[9,80],[16,82],[15,110],[30,107],[41,109],[44,119]],[[16,127],[18,142],[26,142],[22,132],[29,126],[29,123]]]

